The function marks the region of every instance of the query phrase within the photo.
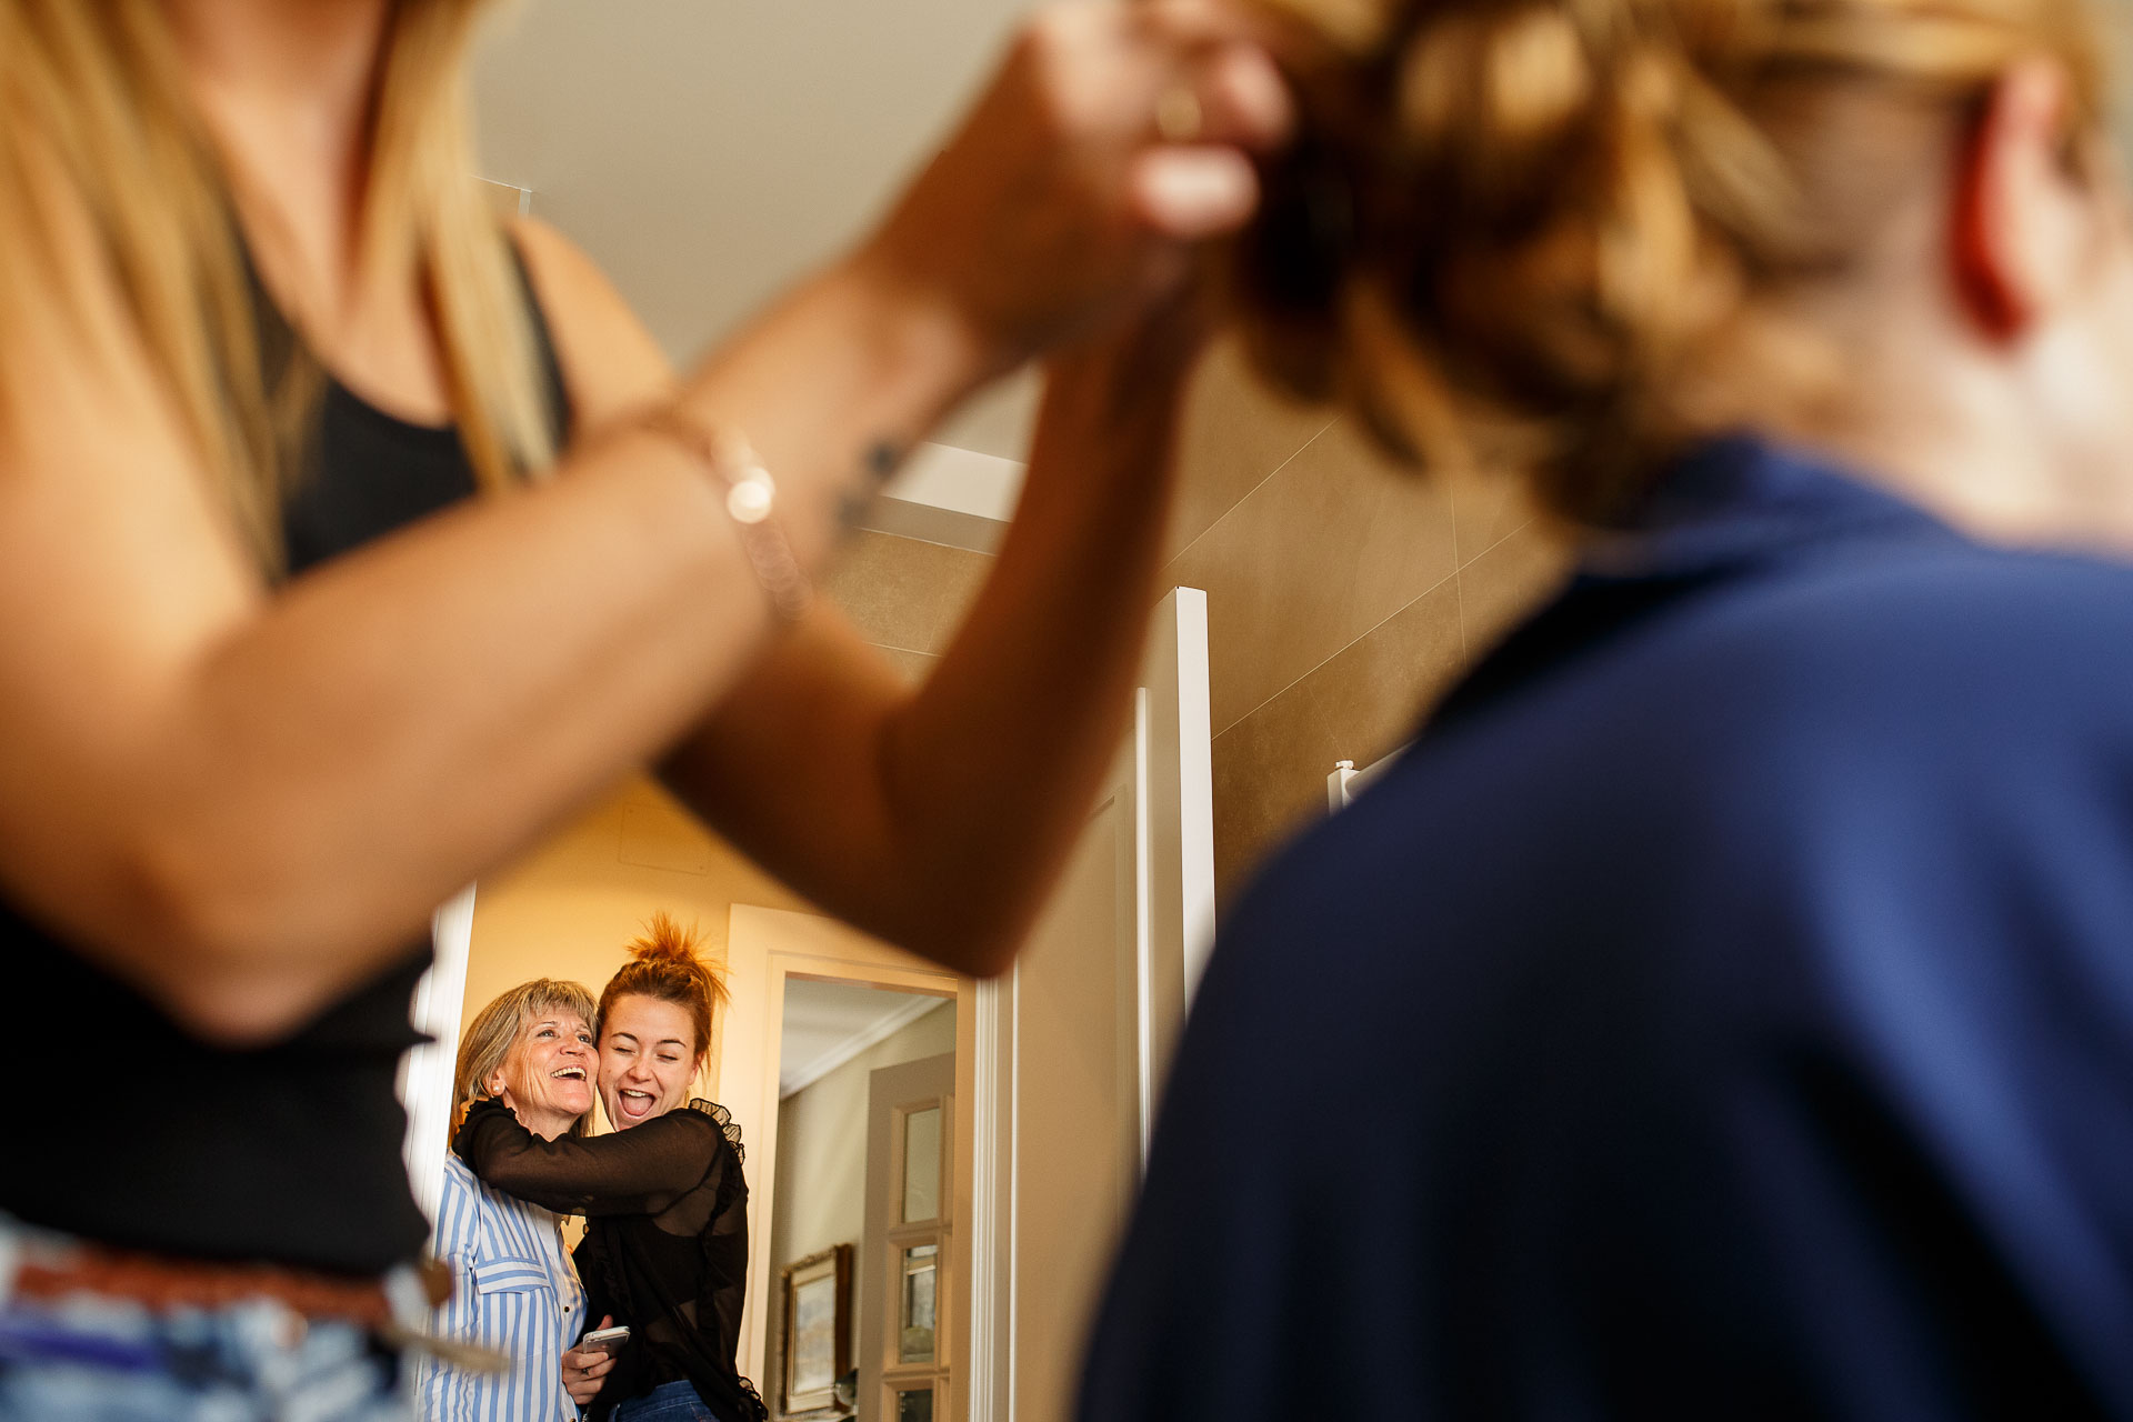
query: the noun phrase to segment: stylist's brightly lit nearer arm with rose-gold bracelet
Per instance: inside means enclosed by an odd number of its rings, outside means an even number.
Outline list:
[[[672,742],[766,601],[706,471],[644,435],[269,597],[105,301],[117,354],[38,330],[0,446],[0,876],[179,1019],[256,1038]],[[693,379],[755,409],[804,561],[862,450],[971,377],[913,352],[936,322],[838,269]]]

